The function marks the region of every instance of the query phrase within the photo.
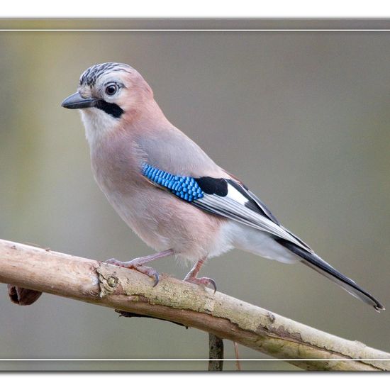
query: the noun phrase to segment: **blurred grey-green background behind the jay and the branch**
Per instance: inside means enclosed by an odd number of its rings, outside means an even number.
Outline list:
[[[0,238],[96,260],[152,250],[94,183],[84,128],[60,107],[98,62],[143,74],[167,118],[287,228],[390,306],[389,33],[1,32]],[[183,278],[172,258],[159,272]],[[218,290],[390,352],[381,314],[302,264],[233,251]],[[0,285],[0,358],[206,358],[208,335]],[[240,357],[267,358],[240,346]],[[225,357],[233,345],[225,341]],[[243,362],[243,369],[296,369]],[[207,362],[1,362],[0,369],[204,370]],[[225,362],[225,369],[235,369]]]

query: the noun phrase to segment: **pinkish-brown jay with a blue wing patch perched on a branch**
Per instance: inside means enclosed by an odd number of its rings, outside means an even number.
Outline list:
[[[127,262],[159,281],[145,264],[174,255],[191,264],[184,282],[213,287],[199,270],[237,248],[284,263],[301,262],[376,311],[384,306],[282,225],[243,182],[168,121],[141,74],[121,62],[93,65],[62,107],[79,109],[94,178],[126,224],[156,252]]]

